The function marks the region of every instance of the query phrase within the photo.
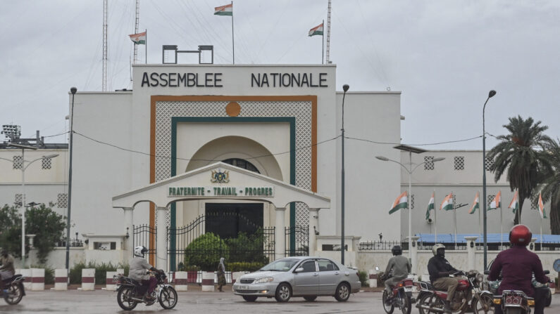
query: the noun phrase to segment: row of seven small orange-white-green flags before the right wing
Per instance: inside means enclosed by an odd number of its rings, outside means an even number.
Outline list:
[[[477,209],[480,209],[479,204],[479,194],[476,192],[475,200],[473,201],[473,205],[471,209],[468,211],[468,214],[474,214]],[[406,191],[402,192],[397,199],[394,200],[392,207],[389,211],[389,214],[393,214],[395,211],[399,209],[404,209],[409,207],[409,197]],[[502,191],[499,191],[498,194],[492,199],[490,202],[490,207],[488,210],[491,209],[498,209],[502,207]],[[428,209],[426,209],[426,219],[430,218],[430,210],[435,209],[435,193],[432,193],[432,197],[430,198],[430,202],[428,202]],[[450,211],[453,209],[453,193],[449,193],[446,197],[444,197],[442,204],[440,205],[440,210]],[[519,202],[518,202],[518,195],[517,191],[514,194],[514,199],[511,199],[509,203],[508,209],[517,213],[519,210]],[[545,204],[542,202],[542,195],[539,193],[539,214],[541,218],[547,218],[547,214],[545,212]]]

